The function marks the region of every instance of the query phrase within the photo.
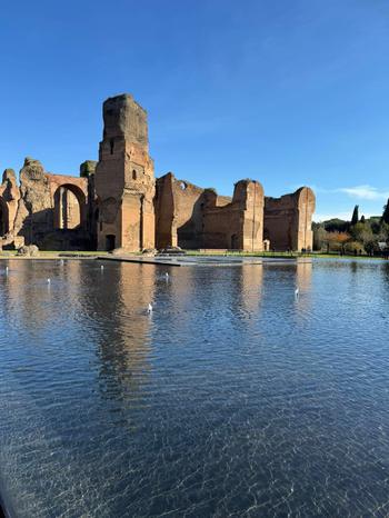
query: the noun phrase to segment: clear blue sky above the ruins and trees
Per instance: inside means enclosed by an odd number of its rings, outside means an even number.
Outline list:
[[[388,0],[14,0],[0,29],[1,169],[78,175],[131,92],[157,176],[308,185],[316,219],[389,197]]]

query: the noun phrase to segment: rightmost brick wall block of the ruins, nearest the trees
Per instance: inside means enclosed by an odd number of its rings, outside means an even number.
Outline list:
[[[265,198],[265,239],[276,251],[312,249],[315,193],[301,187],[292,195]]]

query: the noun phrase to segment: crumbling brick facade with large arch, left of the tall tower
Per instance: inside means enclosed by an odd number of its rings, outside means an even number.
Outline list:
[[[0,243],[2,248],[38,245],[46,250],[90,249],[88,178],[52,175],[32,158],[20,170],[20,187],[12,169],[0,186]]]

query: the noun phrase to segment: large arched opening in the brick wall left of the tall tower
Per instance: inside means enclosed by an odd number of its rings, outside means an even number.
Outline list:
[[[76,230],[84,225],[86,196],[82,190],[70,183],[60,186],[54,193],[54,227]]]

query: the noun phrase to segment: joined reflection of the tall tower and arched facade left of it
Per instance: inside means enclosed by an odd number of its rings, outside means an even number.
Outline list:
[[[152,317],[146,308],[154,296],[156,267],[108,263],[101,270],[98,261],[10,260],[0,269],[1,311],[10,331],[28,329],[31,350],[63,351],[71,343],[82,357],[92,347],[104,397],[139,397],[150,370]],[[56,328],[62,340],[52,342]]]

